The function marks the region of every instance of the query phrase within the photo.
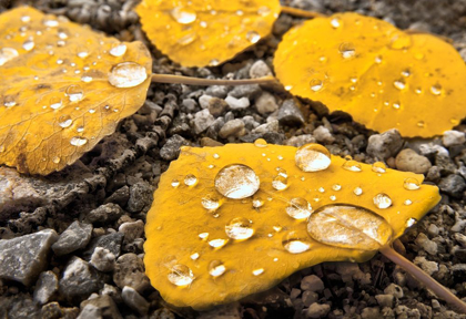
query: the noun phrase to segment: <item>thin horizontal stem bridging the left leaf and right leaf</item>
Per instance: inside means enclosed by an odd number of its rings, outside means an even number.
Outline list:
[[[246,84],[276,84],[277,81],[273,76],[263,76],[257,79],[244,80],[222,80],[222,79],[199,79],[183,75],[172,74],[152,74],[152,82],[173,83],[188,85],[246,85]]]

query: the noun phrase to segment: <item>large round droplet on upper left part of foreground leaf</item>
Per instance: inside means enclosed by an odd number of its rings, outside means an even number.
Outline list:
[[[214,183],[220,194],[233,199],[250,197],[260,186],[260,179],[254,171],[242,164],[232,164],[220,169]]]

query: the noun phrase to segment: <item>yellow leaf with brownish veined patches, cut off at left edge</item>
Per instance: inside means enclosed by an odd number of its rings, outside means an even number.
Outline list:
[[[141,42],[27,7],[0,25],[0,164],[60,171],[145,101],[152,60]]]

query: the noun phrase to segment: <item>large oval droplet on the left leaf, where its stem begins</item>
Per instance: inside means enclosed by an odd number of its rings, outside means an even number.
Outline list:
[[[135,62],[122,62],[112,68],[109,82],[115,88],[138,86],[148,79],[145,68]]]

